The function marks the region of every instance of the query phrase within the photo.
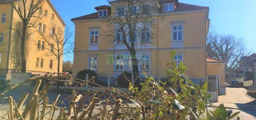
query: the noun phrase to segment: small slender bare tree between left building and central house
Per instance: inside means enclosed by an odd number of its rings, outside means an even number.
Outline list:
[[[61,58],[74,50],[71,42],[73,33],[66,27],[66,30],[62,26],[52,23],[48,28],[48,33],[39,32],[43,41],[45,41],[44,48],[48,50],[47,56],[54,56],[58,60],[58,73],[60,72]]]

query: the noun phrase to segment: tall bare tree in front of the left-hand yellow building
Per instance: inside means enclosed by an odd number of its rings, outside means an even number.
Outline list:
[[[29,28],[35,28],[36,23],[41,19],[38,11],[42,8],[45,0],[12,0],[14,11],[18,14],[16,22],[20,22],[20,27],[10,29],[18,33],[21,49],[21,72],[26,72],[26,43],[31,33],[27,33]],[[19,29],[18,29],[19,28]]]

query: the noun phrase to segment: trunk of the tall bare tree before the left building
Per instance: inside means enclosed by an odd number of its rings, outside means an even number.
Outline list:
[[[26,73],[26,26],[23,25],[21,37],[21,73]]]

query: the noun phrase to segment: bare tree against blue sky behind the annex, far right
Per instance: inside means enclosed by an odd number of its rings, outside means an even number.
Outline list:
[[[234,70],[240,58],[248,55],[242,38],[232,35],[209,34],[207,39],[207,53],[209,57],[220,59],[226,62],[226,77]]]

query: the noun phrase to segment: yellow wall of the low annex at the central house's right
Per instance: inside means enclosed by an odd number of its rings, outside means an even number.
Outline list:
[[[225,64],[207,63],[207,75],[220,75],[220,87],[225,87]]]

